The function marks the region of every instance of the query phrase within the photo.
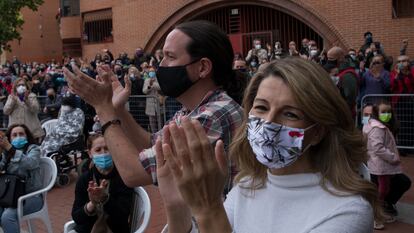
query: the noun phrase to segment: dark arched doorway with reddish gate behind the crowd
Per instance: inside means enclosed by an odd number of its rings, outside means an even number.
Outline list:
[[[314,40],[319,48],[323,38],[299,19],[279,10],[257,5],[227,6],[212,10],[194,19],[207,20],[225,31],[232,42],[234,52],[246,55],[258,38],[264,47],[280,41],[287,49],[290,41],[295,41],[300,49],[301,40]],[[273,46],[272,46],[273,47]]]

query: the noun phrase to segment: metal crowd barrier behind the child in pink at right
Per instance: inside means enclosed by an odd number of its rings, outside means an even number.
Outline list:
[[[361,119],[363,108],[367,104],[376,104],[380,100],[391,103],[400,128],[396,143],[400,149],[414,149],[414,94],[365,95],[361,99]]]

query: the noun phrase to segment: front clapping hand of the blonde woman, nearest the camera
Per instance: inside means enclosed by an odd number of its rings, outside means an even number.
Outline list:
[[[197,120],[182,119],[182,127],[170,123],[171,142],[162,152],[184,201],[197,220],[224,212],[222,194],[227,175],[223,142],[215,149]],[[158,145],[159,150],[159,145]]]

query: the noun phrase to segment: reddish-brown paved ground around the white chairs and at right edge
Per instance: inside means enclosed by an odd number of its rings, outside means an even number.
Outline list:
[[[402,163],[405,173],[414,181],[414,156],[403,157]],[[48,194],[49,215],[52,221],[54,233],[63,232],[63,225],[71,219],[70,212],[74,199],[76,175],[72,175],[72,181],[69,186],[64,188],[53,188]],[[145,187],[152,205],[151,221],[146,232],[159,233],[163,228],[166,217],[158,189],[154,186]],[[414,232],[414,188],[407,192],[398,204],[400,216],[398,221],[386,225],[386,229],[375,231],[376,233],[409,233]],[[46,232],[45,227],[40,222],[38,231]]]

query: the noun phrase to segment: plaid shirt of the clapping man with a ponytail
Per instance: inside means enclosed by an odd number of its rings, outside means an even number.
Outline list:
[[[218,89],[207,93],[201,103],[193,111],[182,108],[175,113],[171,120],[177,122],[177,125],[179,125],[182,116],[188,116],[191,119],[199,120],[206,130],[212,145],[215,145],[217,140],[221,139],[227,151],[236,129],[241,126],[243,110],[240,105],[230,98],[223,90]],[[152,135],[152,145],[155,144],[157,137],[160,135],[162,135],[162,130]],[[153,147],[145,149],[139,154],[139,157],[142,166],[149,174],[151,174],[152,180],[154,184],[156,184],[157,165],[155,160],[155,149]],[[236,173],[237,171],[234,163],[231,162],[229,165],[229,175],[232,179],[229,179],[226,187],[227,191],[230,190],[231,182]]]

